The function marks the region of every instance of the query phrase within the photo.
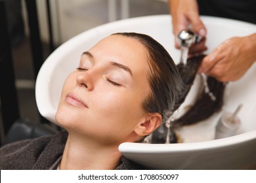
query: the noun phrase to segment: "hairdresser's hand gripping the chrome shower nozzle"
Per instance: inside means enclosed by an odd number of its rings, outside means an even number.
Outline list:
[[[177,42],[177,35],[180,31],[188,29],[198,33],[203,37],[202,42],[190,47],[190,54],[196,54],[205,51],[206,28],[200,20],[198,12],[198,3],[196,0],[169,0],[169,9],[172,16],[173,34],[175,35],[175,47],[180,48]]]

